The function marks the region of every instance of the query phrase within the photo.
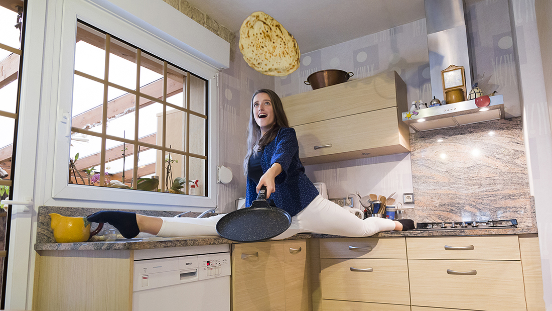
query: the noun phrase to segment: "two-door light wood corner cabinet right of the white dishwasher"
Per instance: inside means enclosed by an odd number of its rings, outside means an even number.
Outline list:
[[[232,245],[232,309],[310,309],[306,241]]]

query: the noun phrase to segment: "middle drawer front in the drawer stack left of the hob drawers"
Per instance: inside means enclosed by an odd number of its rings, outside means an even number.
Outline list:
[[[322,299],[410,304],[406,259],[321,259],[320,266]]]

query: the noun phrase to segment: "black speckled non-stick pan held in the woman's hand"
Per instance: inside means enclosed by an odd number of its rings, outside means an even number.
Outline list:
[[[222,238],[237,242],[253,242],[274,238],[291,225],[291,216],[283,209],[272,207],[266,200],[267,188],[259,190],[250,207],[224,215],[216,223]]]

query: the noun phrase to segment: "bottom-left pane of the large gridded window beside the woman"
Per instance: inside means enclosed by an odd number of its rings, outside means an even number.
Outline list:
[[[69,183],[99,186],[99,183],[95,183],[95,185],[92,183],[91,177],[93,171],[97,171],[98,173],[100,171],[99,160],[101,150],[101,138],[81,133],[71,133]]]

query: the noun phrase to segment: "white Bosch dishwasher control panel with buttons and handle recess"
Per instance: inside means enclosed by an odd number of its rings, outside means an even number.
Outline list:
[[[230,253],[169,257],[134,262],[132,291],[229,276]]]

